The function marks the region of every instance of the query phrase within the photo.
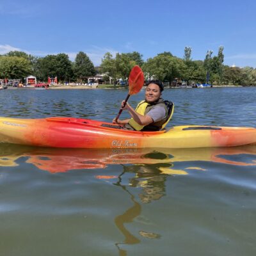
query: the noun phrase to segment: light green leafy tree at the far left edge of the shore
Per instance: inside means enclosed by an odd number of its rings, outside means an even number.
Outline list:
[[[0,77],[23,80],[31,72],[31,63],[26,58],[18,56],[0,57]]]

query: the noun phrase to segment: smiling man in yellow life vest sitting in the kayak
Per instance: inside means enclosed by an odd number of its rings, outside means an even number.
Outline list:
[[[173,113],[173,104],[161,98],[163,83],[158,80],[147,83],[145,100],[142,100],[136,109],[127,102],[121,104],[122,109],[129,111],[131,118],[113,120],[113,124],[124,125],[124,129],[134,131],[159,131],[170,121]]]

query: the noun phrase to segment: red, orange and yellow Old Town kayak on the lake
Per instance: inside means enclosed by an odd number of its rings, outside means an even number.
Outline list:
[[[0,142],[56,148],[202,148],[256,145],[253,127],[181,125],[141,132],[97,120],[0,117]]]

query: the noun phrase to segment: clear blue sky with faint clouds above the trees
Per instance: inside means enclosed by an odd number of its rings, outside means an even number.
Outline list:
[[[255,0],[0,0],[0,54],[85,52],[95,66],[106,52],[167,51],[193,60],[208,50],[224,64],[256,68]]]

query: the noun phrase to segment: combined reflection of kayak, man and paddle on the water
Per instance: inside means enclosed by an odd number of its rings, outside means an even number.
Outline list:
[[[87,150],[0,144],[0,166],[18,166],[21,157],[25,157],[26,163],[50,173],[88,169],[96,171],[109,165],[122,166],[121,171],[118,169],[122,173],[111,172],[109,175],[104,173],[94,177],[108,180],[125,191],[131,202],[131,207],[115,216],[115,225],[124,236],[124,239],[115,242],[115,246],[119,255],[124,256],[127,255],[125,246],[141,243],[143,239],[161,237],[161,232],[157,234],[144,227],[134,231],[131,224],[136,224],[142,218],[143,205],[152,204],[166,196],[166,180],[170,175],[207,172],[207,164],[203,168],[202,161],[256,166],[256,147]]]

